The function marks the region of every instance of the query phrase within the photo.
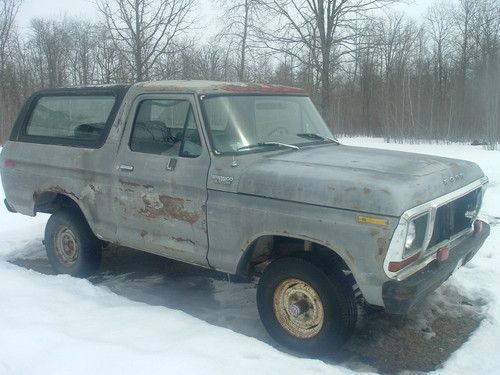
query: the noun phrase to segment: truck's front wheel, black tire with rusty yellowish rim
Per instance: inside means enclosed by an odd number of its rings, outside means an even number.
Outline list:
[[[281,258],[264,270],[257,306],[271,337],[310,355],[337,351],[357,320],[356,298],[347,277],[301,258]]]

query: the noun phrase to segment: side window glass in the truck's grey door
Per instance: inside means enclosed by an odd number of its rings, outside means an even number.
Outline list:
[[[147,154],[197,157],[201,139],[187,100],[143,100],[137,109],[130,149]]]

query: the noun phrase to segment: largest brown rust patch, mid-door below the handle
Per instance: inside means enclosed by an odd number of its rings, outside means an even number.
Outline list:
[[[196,212],[189,212],[184,208],[184,200],[181,198],[160,195],[159,202],[152,202],[146,196],[142,198],[144,208],[139,213],[149,219],[172,218],[194,224],[200,219]]]

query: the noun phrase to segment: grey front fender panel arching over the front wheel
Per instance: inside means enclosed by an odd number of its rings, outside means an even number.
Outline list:
[[[358,222],[358,212],[209,190],[208,260],[237,273],[251,244],[266,235],[299,238],[334,251],[349,266],[365,299],[383,305],[383,262],[398,219],[387,225]]]

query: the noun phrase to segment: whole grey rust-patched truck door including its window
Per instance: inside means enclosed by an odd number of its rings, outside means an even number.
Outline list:
[[[119,148],[117,237],[124,246],[207,265],[210,156],[193,95],[139,96]]]

